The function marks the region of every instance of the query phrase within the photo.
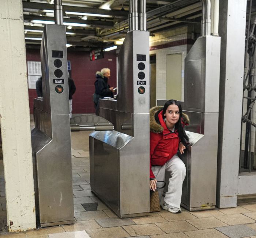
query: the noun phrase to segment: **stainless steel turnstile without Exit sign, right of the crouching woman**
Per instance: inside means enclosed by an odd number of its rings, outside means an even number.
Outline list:
[[[220,46],[220,37],[202,36],[185,58],[181,104],[190,119],[185,128],[190,143],[181,155],[187,168],[181,206],[190,211],[216,205]],[[165,102],[158,100],[158,105]]]

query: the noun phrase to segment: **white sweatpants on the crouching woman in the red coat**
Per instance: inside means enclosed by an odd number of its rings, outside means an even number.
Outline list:
[[[165,171],[170,172],[172,177],[169,179],[168,191],[165,194],[164,201],[171,206],[180,208],[182,183],[186,176],[186,167],[182,160],[176,154],[163,166],[153,166],[152,171],[157,181],[165,181]],[[159,187],[161,186],[159,183]],[[163,188],[158,188],[158,193],[161,199]]]

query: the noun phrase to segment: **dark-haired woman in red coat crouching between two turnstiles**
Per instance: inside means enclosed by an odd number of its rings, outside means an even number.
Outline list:
[[[182,115],[182,116],[181,116]],[[162,107],[150,109],[150,190],[157,189],[157,180],[164,180],[165,171],[172,176],[162,208],[172,213],[180,213],[182,183],[186,168],[177,152],[184,153],[188,136],[183,126],[189,119],[182,114],[181,105],[176,100],[169,100]],[[159,196],[162,196],[159,190]]]

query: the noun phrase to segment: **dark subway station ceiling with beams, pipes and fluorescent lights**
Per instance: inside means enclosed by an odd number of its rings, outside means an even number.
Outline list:
[[[151,35],[184,24],[200,24],[200,0],[146,0]],[[67,46],[90,51],[121,44],[128,31],[128,0],[62,0]],[[54,0],[23,0],[27,48],[39,48],[44,24],[54,24]]]

